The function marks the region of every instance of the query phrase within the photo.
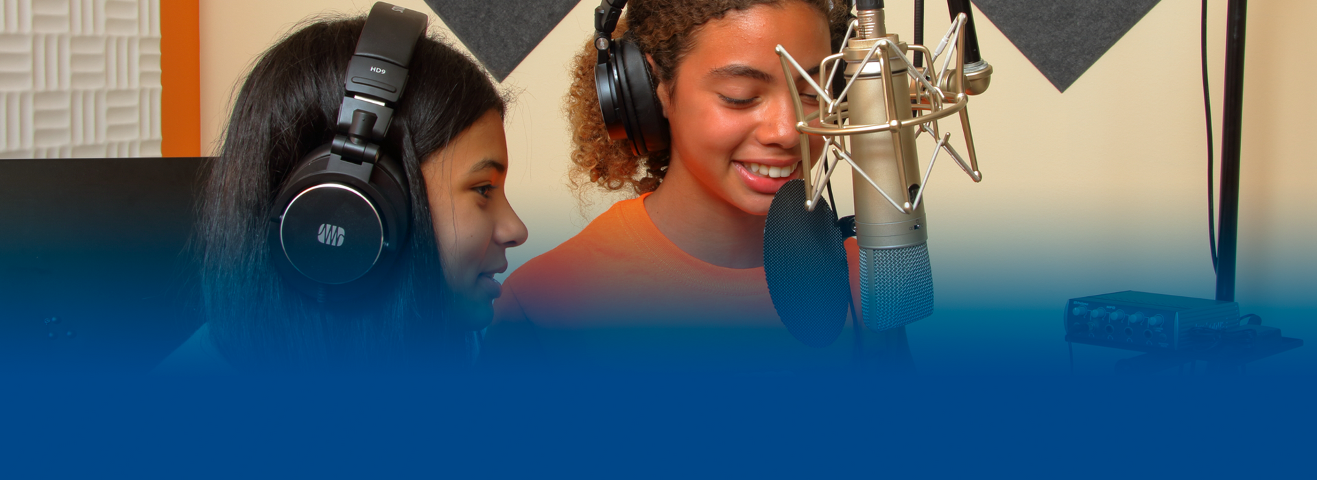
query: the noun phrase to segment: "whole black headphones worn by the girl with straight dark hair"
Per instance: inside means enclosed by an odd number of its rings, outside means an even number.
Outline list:
[[[348,64],[333,142],[303,158],[271,204],[275,268],[321,301],[378,283],[407,239],[407,176],[379,143],[425,24],[424,13],[375,3]]]

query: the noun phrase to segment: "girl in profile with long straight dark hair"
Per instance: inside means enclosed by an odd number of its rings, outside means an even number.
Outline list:
[[[503,195],[504,100],[469,58],[423,37],[381,147],[410,187],[407,241],[352,300],[273,267],[267,222],[290,171],[335,137],[363,17],[312,21],[270,47],[233,105],[200,204],[204,325],[158,371],[437,370],[469,364],[525,226]]]

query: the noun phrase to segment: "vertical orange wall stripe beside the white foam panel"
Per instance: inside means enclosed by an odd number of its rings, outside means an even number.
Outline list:
[[[161,0],[161,153],[202,155],[199,0]]]

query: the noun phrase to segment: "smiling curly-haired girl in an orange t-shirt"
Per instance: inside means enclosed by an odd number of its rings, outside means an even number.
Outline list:
[[[818,66],[846,32],[842,0],[635,0],[614,37],[645,54],[670,147],[640,156],[612,141],[587,45],[573,68],[572,179],[630,191],[574,238],[518,268],[495,302],[489,360],[569,367],[784,371],[856,360],[795,341],[764,280],[773,195],[802,175],[788,83],[774,53]],[[822,145],[815,145],[818,151]]]

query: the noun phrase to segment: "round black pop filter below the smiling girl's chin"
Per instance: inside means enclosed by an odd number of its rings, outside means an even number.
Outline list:
[[[764,276],[786,330],[811,347],[826,347],[846,326],[851,279],[844,237],[827,201],[805,209],[805,181],[773,196],[764,224]]]

